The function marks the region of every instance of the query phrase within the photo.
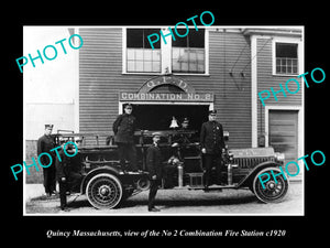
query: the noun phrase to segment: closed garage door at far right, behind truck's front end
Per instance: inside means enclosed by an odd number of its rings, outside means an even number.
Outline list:
[[[270,110],[270,145],[276,152],[285,153],[285,164],[298,159],[298,110]],[[297,169],[288,166],[290,174]]]

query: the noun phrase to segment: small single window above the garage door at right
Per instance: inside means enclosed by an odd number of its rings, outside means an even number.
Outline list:
[[[275,43],[276,74],[298,74],[298,44]]]

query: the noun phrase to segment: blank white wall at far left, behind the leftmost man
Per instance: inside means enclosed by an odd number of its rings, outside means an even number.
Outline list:
[[[69,48],[67,39],[72,33],[67,26],[24,26],[23,35],[24,56],[36,57],[37,50],[43,54],[46,45],[55,45],[63,39],[66,39],[63,44],[67,52],[64,54],[57,44],[55,60],[47,61],[43,56],[44,63],[36,58],[35,67],[29,61],[23,68],[23,161],[32,164],[32,158],[37,159],[36,142],[44,134],[45,123],[54,125],[53,133],[58,129],[78,130],[75,110],[78,104],[78,51]],[[42,168],[38,169],[31,168],[31,174],[25,173],[26,183],[43,182]]]

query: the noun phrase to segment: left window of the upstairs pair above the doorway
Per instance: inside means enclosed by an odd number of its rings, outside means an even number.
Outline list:
[[[147,35],[152,33],[160,33],[160,30],[127,30],[127,71],[129,73],[161,72],[161,43],[155,43],[154,50],[151,47]]]

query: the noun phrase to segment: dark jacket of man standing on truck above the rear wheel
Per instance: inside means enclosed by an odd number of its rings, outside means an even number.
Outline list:
[[[120,115],[113,122],[114,142],[134,143],[136,118],[132,115]]]

